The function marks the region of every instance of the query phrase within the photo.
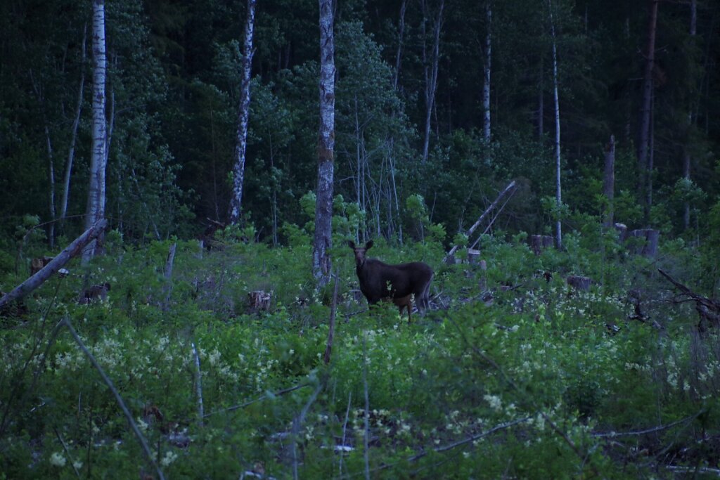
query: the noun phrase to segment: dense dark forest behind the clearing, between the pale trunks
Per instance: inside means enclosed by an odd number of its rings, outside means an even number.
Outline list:
[[[520,188],[494,229],[549,233],[559,211],[554,41],[566,229],[582,227],[573,214],[606,207],[603,155],[614,135],[616,221],[689,239],[707,232],[720,194],[719,6],[660,2],[651,163],[642,165],[636,145],[651,4],[493,2],[489,22],[485,2],[338,2],[335,193],[359,209],[356,235],[419,239],[424,212],[444,225],[449,243],[510,179]],[[25,215],[44,223],[64,214],[53,236],[72,237],[88,188],[90,5],[4,1],[0,9],[4,236]],[[242,1],[107,2],[106,215],[126,239],[191,237],[208,219],[225,222],[245,9]],[[315,189],[317,18],[311,0],[257,6],[243,226],[273,244],[287,244],[289,225],[305,223],[300,200]],[[487,137],[482,86],[490,65]]]

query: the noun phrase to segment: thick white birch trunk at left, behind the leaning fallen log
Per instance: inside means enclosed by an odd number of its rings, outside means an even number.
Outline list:
[[[105,1],[93,1],[93,95],[92,95],[92,152],[90,160],[90,184],[85,216],[85,228],[89,230],[105,215],[105,168],[107,156],[105,120]],[[86,262],[95,255],[98,240],[93,240],[83,252]]]

